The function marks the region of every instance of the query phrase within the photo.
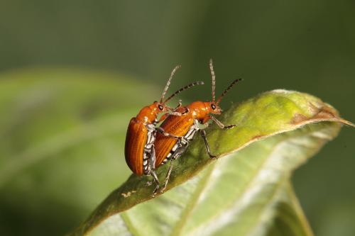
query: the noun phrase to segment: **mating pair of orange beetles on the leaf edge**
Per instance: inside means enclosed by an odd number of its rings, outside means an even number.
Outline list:
[[[181,103],[179,103],[178,107],[170,108],[169,106],[166,106],[165,103],[173,96],[179,94],[185,89],[190,88],[191,86],[203,84],[203,82],[189,84],[184,88],[179,89],[168,99],[163,101],[166,91],[168,90],[168,86],[170,85],[170,81],[178,68],[179,67],[175,67],[175,69],[173,69],[160,101],[155,101],[150,106],[142,108],[136,117],[131,118],[126,134],[126,162],[133,173],[137,175],[145,174],[153,176],[155,182],[153,196],[155,196],[160,187],[155,169],[170,160],[170,167],[165,177],[163,188],[160,189],[160,192],[163,193],[173,169],[173,161],[185,152],[187,146],[190,144],[197,131],[202,135],[209,157],[215,158],[209,150],[206,133],[204,129],[200,129],[199,124],[207,127],[207,122],[209,120],[213,120],[220,128],[223,129],[234,128],[236,126],[224,125],[217,120],[217,118],[214,118],[212,114],[219,115],[222,112],[219,107],[219,102],[229,91],[229,89],[231,89],[231,87],[241,79],[234,80],[234,82],[232,82],[227,89],[224,90],[222,95],[219,96],[216,101],[214,93],[214,69],[212,60],[210,60],[209,69],[212,76],[212,101],[195,101],[190,103],[188,106],[182,106]],[[158,119],[159,113],[165,114]],[[156,125],[161,121],[163,121],[163,123],[160,127],[156,127]]]

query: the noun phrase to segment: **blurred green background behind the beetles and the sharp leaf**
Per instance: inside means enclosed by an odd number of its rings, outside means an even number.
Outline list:
[[[0,235],[63,235],[129,176],[138,108],[172,89],[222,107],[271,89],[355,121],[355,1],[0,1]],[[293,183],[316,235],[355,235],[355,134],[343,128]],[[237,181],[237,180],[236,180]]]

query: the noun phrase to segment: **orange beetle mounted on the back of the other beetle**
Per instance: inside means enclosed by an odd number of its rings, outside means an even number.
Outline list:
[[[139,111],[136,117],[131,118],[129,126],[126,133],[126,142],[124,148],[124,154],[126,163],[134,174],[140,175],[151,175],[155,181],[155,190],[159,188],[158,177],[155,173],[155,150],[154,150],[154,140],[157,130],[165,136],[172,138],[178,138],[174,135],[169,135],[165,133],[163,128],[155,128],[157,123],[164,120],[167,115],[163,115],[158,119],[160,113],[173,114],[174,116],[182,116],[184,113],[176,112],[176,108],[170,108],[166,106],[165,103],[173,98],[173,96],[179,94],[185,89],[189,89],[192,86],[203,84],[203,82],[194,82],[189,84],[174,94],[164,100],[165,94],[170,86],[171,79],[173,78],[176,70],[180,68],[177,66],[173,69],[170,74],[170,78],[163,90],[163,94],[160,97],[160,101],[154,101],[151,105],[145,106]],[[179,101],[178,107],[181,106],[181,101]]]

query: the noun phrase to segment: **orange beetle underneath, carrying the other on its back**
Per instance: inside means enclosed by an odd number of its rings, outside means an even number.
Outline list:
[[[215,100],[215,75],[212,60],[209,60],[209,69],[211,71],[212,77],[212,101],[194,101],[188,106],[180,106],[176,112],[185,112],[184,116],[174,116],[170,115],[163,123],[160,128],[163,128],[166,133],[175,135],[178,138],[172,138],[158,133],[155,137],[155,168],[159,167],[161,164],[165,164],[170,160],[170,167],[168,173],[166,174],[164,186],[160,189],[160,193],[165,191],[168,184],[171,171],[173,169],[173,161],[181,156],[183,152],[187,149],[194,135],[199,132],[204,140],[204,145],[206,147],[209,157],[216,158],[209,149],[209,144],[207,142],[206,132],[204,129],[200,128],[200,124],[207,128],[208,121],[212,120],[216,123],[219,128],[228,130],[230,128],[236,127],[236,125],[224,125],[222,122],[217,120],[212,114],[219,115],[222,113],[222,109],[219,107],[219,102],[226,95],[226,93],[236,84],[236,82],[241,81],[241,79],[235,79],[231,84],[224,90],[224,92]]]

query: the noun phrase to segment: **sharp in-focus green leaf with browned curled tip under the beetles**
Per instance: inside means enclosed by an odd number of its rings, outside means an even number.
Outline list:
[[[149,177],[132,175],[72,235],[312,235],[290,176],[341,123],[353,124],[320,99],[285,90],[233,105],[220,119],[239,126],[208,128],[217,161],[196,137],[174,164],[171,191],[151,199]]]

